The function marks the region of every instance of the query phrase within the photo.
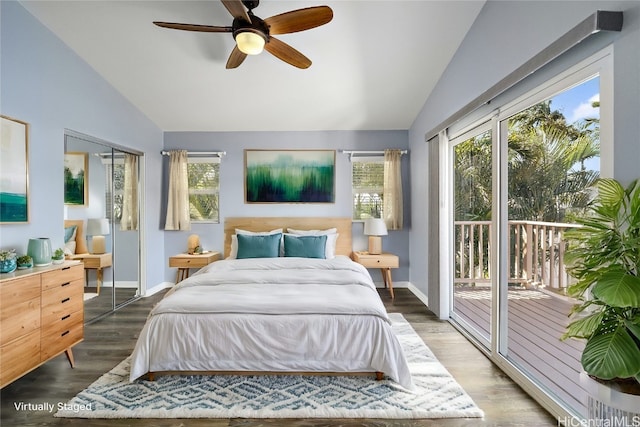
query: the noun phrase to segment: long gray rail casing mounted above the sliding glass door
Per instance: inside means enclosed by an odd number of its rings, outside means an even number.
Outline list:
[[[611,12],[598,10],[587,19],[570,29],[559,39],[540,51],[533,58],[522,64],[505,78],[491,86],[480,96],[469,102],[456,113],[449,116],[445,121],[431,129],[425,134],[425,141],[429,141],[438,133],[456,123],[458,120],[476,111],[484,104],[491,102],[496,96],[506,92],[507,89],[515,86],[524,80],[528,75],[538,71],[549,62],[553,61],[572,47],[601,31],[622,31],[622,12]]]

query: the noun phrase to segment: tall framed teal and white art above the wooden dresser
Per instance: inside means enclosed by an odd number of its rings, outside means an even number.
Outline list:
[[[0,223],[29,222],[29,124],[0,116]]]

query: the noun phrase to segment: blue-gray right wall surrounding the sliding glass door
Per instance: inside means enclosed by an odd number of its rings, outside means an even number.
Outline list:
[[[638,177],[640,164],[640,2],[637,1],[488,1],[461,43],[444,75],[409,130],[412,229],[410,280],[429,297],[436,313],[438,284],[429,283],[426,212],[430,172],[425,133],[489,89],[596,10],[624,12],[621,33],[598,34],[549,64],[539,76],[552,76],[613,44],[614,175]],[[515,91],[512,92],[512,94]],[[505,94],[503,98],[508,97]],[[500,102],[492,103],[493,108]]]

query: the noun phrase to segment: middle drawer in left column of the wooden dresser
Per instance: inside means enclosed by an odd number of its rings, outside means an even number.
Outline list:
[[[40,295],[10,306],[3,304],[0,318],[0,345],[4,346],[40,328]]]

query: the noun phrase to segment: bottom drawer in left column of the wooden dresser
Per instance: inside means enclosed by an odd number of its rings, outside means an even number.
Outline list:
[[[4,387],[40,364],[40,330],[2,346],[1,352],[0,387]]]

